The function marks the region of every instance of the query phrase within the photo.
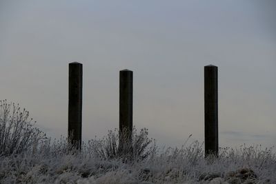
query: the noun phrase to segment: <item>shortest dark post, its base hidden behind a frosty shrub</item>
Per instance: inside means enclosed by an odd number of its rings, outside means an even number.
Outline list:
[[[128,131],[128,139],[131,141],[133,72],[121,70],[119,80],[119,134]]]

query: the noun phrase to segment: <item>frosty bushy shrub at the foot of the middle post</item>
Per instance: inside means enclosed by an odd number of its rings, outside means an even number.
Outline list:
[[[101,159],[124,159],[124,161],[144,160],[156,154],[157,146],[155,141],[148,138],[148,129],[143,128],[138,134],[134,127],[130,139],[129,134],[126,129],[121,134],[117,129],[109,130],[103,139],[88,141],[88,150]]]

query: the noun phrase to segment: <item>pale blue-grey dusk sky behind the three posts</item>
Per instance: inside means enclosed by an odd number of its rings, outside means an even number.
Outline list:
[[[217,65],[219,147],[276,142],[276,3],[0,0],[0,99],[67,135],[68,63],[83,63],[83,140],[119,127],[119,70],[133,124],[157,144],[204,141],[204,66]]]

